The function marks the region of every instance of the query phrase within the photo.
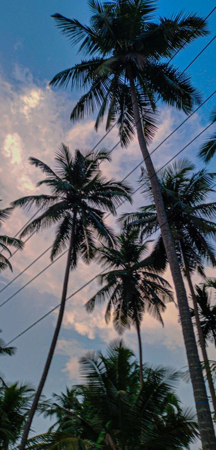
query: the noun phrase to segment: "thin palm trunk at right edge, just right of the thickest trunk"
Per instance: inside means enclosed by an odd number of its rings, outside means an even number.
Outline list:
[[[196,294],[194,292],[194,286],[193,286],[191,278],[190,278],[190,270],[189,270],[189,266],[188,266],[188,263],[187,263],[187,258],[185,257],[185,252],[182,249],[182,247],[181,247],[181,251],[182,251],[184,264],[185,264],[185,275],[186,275],[186,279],[187,279],[187,282],[188,282],[188,285],[189,285],[189,288],[190,288],[191,297],[192,297],[192,300],[193,300],[194,316],[195,316],[196,326],[197,326],[197,331],[198,331],[199,344],[200,344],[200,347],[201,347],[201,351],[202,351],[202,355],[203,355],[203,361],[204,361],[204,364],[205,364],[206,376],[207,376],[209,391],[210,391],[211,396],[212,396],[212,404],[213,404],[213,408],[214,408],[214,413],[216,415],[216,393],[215,393],[215,388],[214,388],[214,384],[213,384],[213,380],[212,380],[211,369],[210,369],[209,362],[208,362],[208,356],[207,356],[206,345],[205,345],[205,340],[204,340],[204,336],[203,336],[203,330],[202,330],[202,327],[201,327],[200,321],[199,321],[199,314],[198,314],[198,306],[197,306]]]

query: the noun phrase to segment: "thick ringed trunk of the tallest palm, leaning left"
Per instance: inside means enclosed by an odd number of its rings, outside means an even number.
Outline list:
[[[182,279],[179,267],[175,245],[169,228],[167,215],[163,203],[163,197],[159,186],[159,181],[154,170],[143,134],[140,111],[137,102],[137,92],[134,84],[131,68],[128,67],[128,77],[130,82],[132,107],[134,119],[137,127],[137,137],[141,148],[142,156],[145,160],[145,166],[150,177],[152,193],[154,195],[155,207],[158,215],[159,226],[163,238],[164,247],[167,253],[172,279],[175,285],[176,296],[178,300],[179,313],[181,318],[182,332],[185,342],[185,349],[190,369],[190,378],[194,390],[194,399],[196,403],[198,424],[203,450],[216,449],[216,437],[212,423],[212,416],[207,399],[206,387],[203,379],[203,372],[198,356],[196,339],[194,336],[193,324],[190,316],[190,309],[187,301],[185,285]]]

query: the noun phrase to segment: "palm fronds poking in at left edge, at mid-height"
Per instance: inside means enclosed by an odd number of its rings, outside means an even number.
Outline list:
[[[1,200],[0,200],[1,202]],[[2,225],[4,224],[4,221],[9,219],[11,213],[13,211],[13,208],[5,208],[5,209],[0,209],[0,228],[2,227]],[[9,236],[4,235],[0,235],[0,249],[1,251],[6,250],[9,255],[11,256],[11,251],[8,248],[8,245],[11,245],[19,250],[22,250],[24,247],[24,243],[20,240],[20,239],[16,239],[16,238],[10,238]],[[10,264],[10,261],[8,258],[6,258],[2,252],[0,252],[0,272],[4,269],[6,269],[7,267],[9,267],[9,269],[11,271],[12,270],[12,266]]]

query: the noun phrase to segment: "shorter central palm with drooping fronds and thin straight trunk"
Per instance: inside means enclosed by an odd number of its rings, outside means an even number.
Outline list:
[[[100,275],[101,284],[106,283],[88,302],[86,309],[92,312],[95,305],[108,300],[105,320],[111,319],[114,308],[113,323],[116,331],[122,334],[126,328],[135,326],[138,336],[140,356],[140,384],[142,375],[142,343],[140,324],[145,311],[163,325],[161,313],[165,311],[166,302],[173,301],[169,283],[155,274],[150,257],[145,257],[147,243],[138,241],[138,231],[126,229],[118,236],[118,247],[106,246],[98,250],[98,261],[112,269]]]

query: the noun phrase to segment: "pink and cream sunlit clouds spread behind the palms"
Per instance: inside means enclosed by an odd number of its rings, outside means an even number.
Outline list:
[[[0,130],[0,147],[1,147],[1,198],[4,203],[2,207],[9,205],[15,198],[32,192],[40,193],[42,188],[35,188],[37,181],[43,177],[43,174],[28,163],[29,156],[36,156],[39,159],[52,165],[54,152],[58,145],[63,141],[69,145],[71,151],[74,148],[93,148],[103,134],[104,128],[101,127],[99,132],[94,130],[94,121],[92,118],[86,119],[82,123],[72,125],[69,117],[74,105],[73,94],[53,91],[48,87],[46,81],[38,83],[33,80],[31,72],[27,68],[15,66],[14,77],[20,83],[9,83],[5,81],[4,76],[0,75],[0,102],[2,114],[2,126]],[[160,117],[160,125],[158,133],[151,144],[150,150],[153,150],[159,143],[181,122],[185,116],[179,112],[172,111],[170,108],[162,108]],[[187,122],[187,126],[182,127],[172,139],[166,141],[157,152],[154,152],[153,160],[155,166],[159,166],[174,155],[177,150],[181,149],[189,139],[192,139],[198,131],[202,129],[201,118],[194,116]],[[190,137],[189,137],[190,136]],[[116,129],[100,144],[106,148],[112,148],[118,142]],[[196,154],[197,143],[187,149],[187,156],[194,159]],[[184,154],[182,155],[184,156]],[[104,163],[101,166],[107,177],[115,176],[122,179],[134,166],[141,161],[141,152],[137,144],[137,139],[130,145],[128,149],[118,146],[112,154],[113,162],[111,164]],[[129,178],[134,186],[139,176],[140,170]],[[43,188],[44,189],[44,188]],[[134,198],[133,206],[128,204],[119,208],[119,213],[123,211],[136,210],[145,203],[145,198],[141,193],[137,193]],[[10,235],[17,233],[18,229],[26,222],[26,220],[35,212],[32,210],[20,211],[15,210],[11,219],[6,223],[4,232]],[[112,226],[115,221],[110,216],[108,219]],[[53,240],[53,231],[35,234],[26,243],[25,250],[17,252],[13,257],[14,274],[4,273],[5,281],[17,275],[20,270],[26,267],[31,261],[40,255]],[[20,285],[28,281],[31,277],[42,270],[48,263],[49,252],[43,258],[36,262],[31,268],[18,279],[18,284],[13,284],[14,291]],[[62,279],[64,276],[66,256],[54,263],[40,278],[35,279],[33,286],[38,291],[38,304],[43,305],[43,293],[49,292],[53,294],[54,304],[56,297],[61,298]],[[101,268],[93,263],[86,266],[80,262],[77,270],[71,272],[70,283],[68,287],[68,295],[73,293],[81,285],[99,273]],[[11,277],[11,278],[10,278]],[[169,272],[165,274],[165,278],[172,283]],[[86,337],[92,342],[92,347],[96,343],[104,344],[117,334],[115,333],[112,323],[105,324],[104,311],[105,306],[97,308],[92,315],[88,315],[84,309],[84,303],[97,291],[98,284],[95,280],[89,284],[79,294],[72,297],[66,304],[66,312],[63,321],[63,332],[72,329],[79,336]],[[23,290],[23,295],[28,296],[28,288]],[[5,293],[6,295],[6,293]],[[7,307],[10,308],[10,303]],[[12,306],[11,306],[12,307]],[[30,306],[31,307],[31,304]],[[53,325],[56,321],[56,314],[53,314]],[[174,306],[168,305],[167,312],[164,314],[165,328],[161,326],[148,315],[145,316],[141,331],[145,342],[149,345],[158,345],[163,343],[167,351],[177,351],[183,347],[181,336],[181,327],[177,323],[177,310]],[[23,317],[22,328],[28,325],[28,315]],[[130,342],[134,349],[137,349],[137,338],[134,330],[125,334],[125,342]],[[65,370],[70,373],[70,377],[75,377],[77,366],[75,365],[76,355],[79,353],[79,345],[74,342],[75,351],[70,354],[71,344],[59,342],[58,351],[63,351],[69,358]],[[99,344],[98,344],[99,345]]]

